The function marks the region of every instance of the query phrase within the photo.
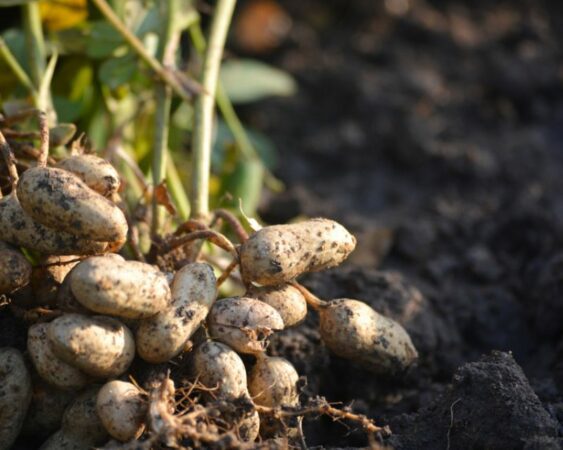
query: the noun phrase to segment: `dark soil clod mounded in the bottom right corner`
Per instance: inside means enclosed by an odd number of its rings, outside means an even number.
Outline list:
[[[391,427],[389,443],[397,450],[546,448],[538,447],[542,442],[550,448],[558,436],[557,421],[512,355],[503,352],[463,365],[443,396],[395,418]]]

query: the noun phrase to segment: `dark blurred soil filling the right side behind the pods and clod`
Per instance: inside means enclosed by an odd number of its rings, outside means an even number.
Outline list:
[[[371,375],[331,356],[314,319],[271,352],[309,392],[389,424],[398,449],[563,447],[563,3],[385,8],[404,3],[283,2],[293,28],[267,59],[300,91],[244,113],[288,186],[262,217],[333,217],[358,236],[304,283],[401,322],[420,363]],[[328,420],[306,437],[367,444]]]

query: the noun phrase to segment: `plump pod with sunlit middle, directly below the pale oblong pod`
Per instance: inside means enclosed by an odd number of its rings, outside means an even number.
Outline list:
[[[47,336],[55,355],[94,377],[121,375],[135,356],[131,331],[110,317],[65,314],[50,323]]]

